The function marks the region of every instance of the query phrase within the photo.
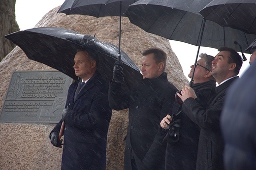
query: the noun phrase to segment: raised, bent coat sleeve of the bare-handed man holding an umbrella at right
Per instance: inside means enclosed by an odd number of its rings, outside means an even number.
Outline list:
[[[223,99],[218,99],[208,108],[202,108],[193,98],[183,102],[182,111],[202,129],[219,129]]]

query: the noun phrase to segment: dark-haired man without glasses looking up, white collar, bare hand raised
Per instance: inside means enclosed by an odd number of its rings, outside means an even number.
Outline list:
[[[200,128],[198,143],[197,170],[223,170],[224,140],[220,129],[220,115],[224,104],[225,92],[228,87],[239,77],[242,66],[241,56],[233,49],[222,47],[212,61],[212,75],[219,86],[216,94],[209,100],[207,109],[196,102],[194,90],[185,85],[181,94],[182,111]]]

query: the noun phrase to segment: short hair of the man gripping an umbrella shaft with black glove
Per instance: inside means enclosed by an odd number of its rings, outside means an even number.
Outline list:
[[[164,64],[164,66],[163,66],[163,72],[164,72],[165,66],[166,66],[166,59],[167,59],[166,53],[163,50],[161,50],[160,48],[154,47],[154,48],[145,50],[142,53],[142,56],[146,56],[146,55],[149,55],[152,53],[154,54],[154,60],[156,61],[157,64],[159,64],[160,62],[162,62]]]

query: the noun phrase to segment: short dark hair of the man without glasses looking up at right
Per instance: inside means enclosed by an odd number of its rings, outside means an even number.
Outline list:
[[[235,63],[236,67],[235,67],[235,75],[239,74],[239,71],[243,65],[243,58],[232,48],[228,48],[228,47],[221,47],[218,49],[219,52],[221,51],[228,51],[230,53],[230,56],[228,57],[228,63]]]

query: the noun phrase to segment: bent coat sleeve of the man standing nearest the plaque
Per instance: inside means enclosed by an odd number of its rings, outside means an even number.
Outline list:
[[[65,123],[78,127],[78,128],[86,128],[86,129],[94,129],[99,128],[101,126],[105,126],[109,122],[109,116],[111,116],[111,109],[108,105],[107,98],[107,89],[99,89],[92,96],[92,103],[90,104],[90,109],[86,109],[89,112],[84,113],[84,110],[80,110],[80,112],[70,111],[65,116]]]

